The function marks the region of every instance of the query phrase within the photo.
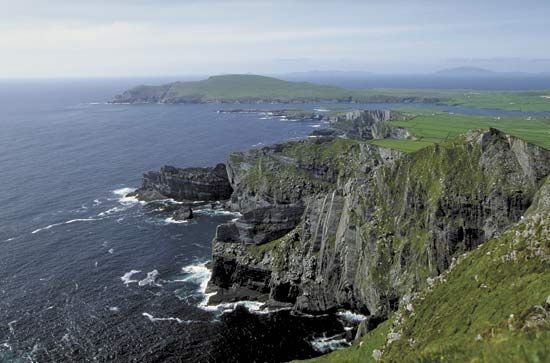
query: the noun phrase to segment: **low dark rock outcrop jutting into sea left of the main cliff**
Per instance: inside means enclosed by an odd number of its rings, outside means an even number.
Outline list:
[[[177,201],[216,201],[229,199],[232,193],[224,164],[215,168],[180,169],[163,166],[160,171],[143,175],[138,199],[151,201],[173,198]]]

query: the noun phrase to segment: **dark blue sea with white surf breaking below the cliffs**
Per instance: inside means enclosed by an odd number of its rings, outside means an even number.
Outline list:
[[[206,209],[177,224],[158,205],[124,196],[144,171],[211,166],[232,151],[304,138],[325,125],[216,112],[246,105],[106,103],[138,83],[0,83],[0,361],[319,354],[312,342],[341,331],[342,322],[254,313],[250,304],[202,306],[215,228],[233,215]],[[333,106],[342,107],[292,105]]]

